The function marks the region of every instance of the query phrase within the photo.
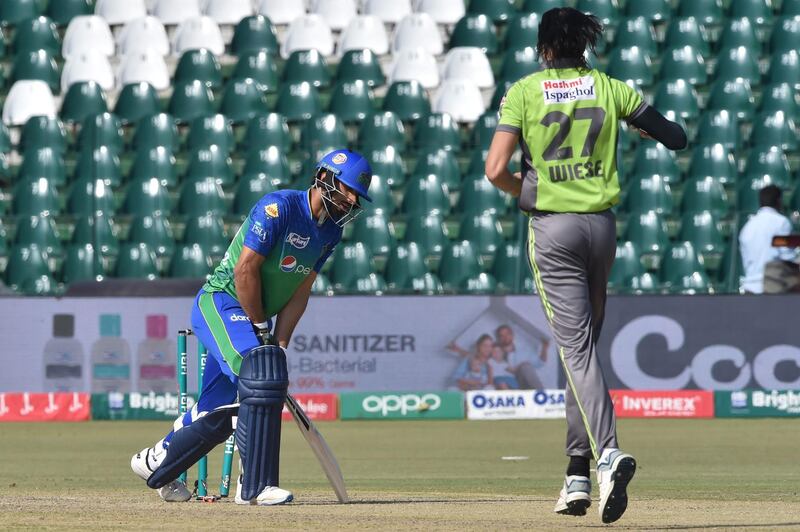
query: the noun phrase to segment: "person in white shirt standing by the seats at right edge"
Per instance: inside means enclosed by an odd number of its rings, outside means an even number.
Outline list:
[[[797,250],[772,247],[773,236],[792,232],[792,223],[780,213],[781,189],[767,185],[759,192],[758,200],[761,207],[739,232],[739,251],[744,266],[740,289],[751,294],[764,292],[764,267],[768,262],[797,260]]]

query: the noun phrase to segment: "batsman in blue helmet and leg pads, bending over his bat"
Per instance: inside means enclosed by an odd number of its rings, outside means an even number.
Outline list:
[[[234,432],[233,416],[242,466],[236,503],[292,500],[278,475],[286,348],[342,228],[362,212],[361,199],[371,201],[371,179],[364,157],[336,150],[319,161],[308,190],[272,192],[251,209],[192,307],[192,329],[210,355],[200,397],[131,458],[163,500],[191,498],[179,475]]]

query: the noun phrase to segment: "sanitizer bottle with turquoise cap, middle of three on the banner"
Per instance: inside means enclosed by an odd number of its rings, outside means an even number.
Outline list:
[[[131,350],[122,339],[119,314],[100,315],[100,339],[92,345],[92,391],[131,391]]]

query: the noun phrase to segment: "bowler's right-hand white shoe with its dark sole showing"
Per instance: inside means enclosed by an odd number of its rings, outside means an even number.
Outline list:
[[[597,484],[600,487],[600,518],[613,523],[628,507],[628,482],[636,473],[636,460],[619,449],[604,449],[597,461]]]

